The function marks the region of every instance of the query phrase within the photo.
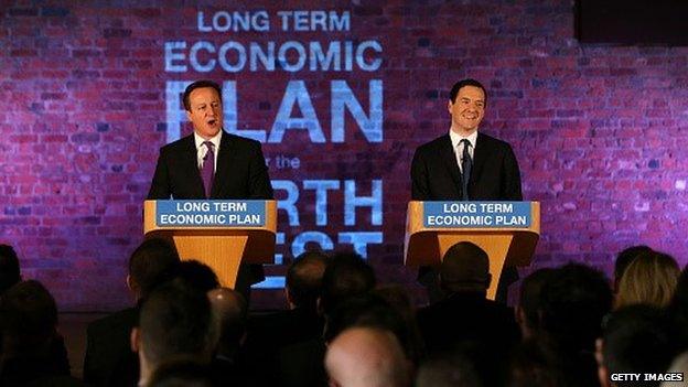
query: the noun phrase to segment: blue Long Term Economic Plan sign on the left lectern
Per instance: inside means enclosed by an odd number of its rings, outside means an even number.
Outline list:
[[[264,227],[265,201],[158,201],[158,227]]]

